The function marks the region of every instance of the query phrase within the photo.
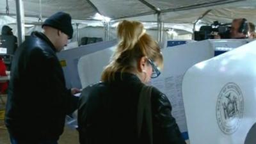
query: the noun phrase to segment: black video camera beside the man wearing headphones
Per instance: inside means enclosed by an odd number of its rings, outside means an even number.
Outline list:
[[[230,38],[230,23],[221,24],[214,21],[211,26],[201,26],[199,31],[195,31],[195,40],[214,39],[214,35],[220,35],[221,38]]]

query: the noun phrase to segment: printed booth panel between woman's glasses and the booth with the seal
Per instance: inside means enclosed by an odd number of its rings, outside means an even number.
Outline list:
[[[164,69],[152,85],[166,94],[172,104],[172,115],[180,127],[182,136],[188,140],[188,129],[182,100],[181,83],[189,67],[214,56],[214,49],[207,40],[192,42],[163,49]]]

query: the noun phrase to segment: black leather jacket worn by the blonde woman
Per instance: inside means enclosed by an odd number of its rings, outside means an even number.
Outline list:
[[[137,109],[142,83],[134,74],[115,74],[111,83],[97,83],[82,92],[78,108],[81,144],[147,144],[147,127],[137,135]],[[152,89],[153,141],[185,144],[166,95]]]

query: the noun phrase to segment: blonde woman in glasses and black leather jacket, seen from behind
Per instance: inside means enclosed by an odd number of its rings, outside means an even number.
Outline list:
[[[161,74],[159,45],[138,21],[118,24],[119,43],[102,82],[83,90],[78,125],[81,144],[185,144],[166,95],[151,78]]]

